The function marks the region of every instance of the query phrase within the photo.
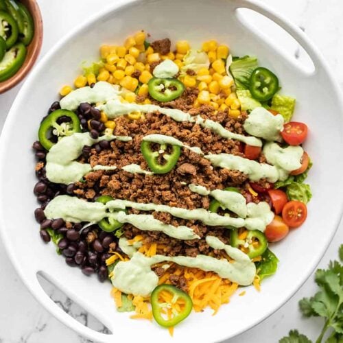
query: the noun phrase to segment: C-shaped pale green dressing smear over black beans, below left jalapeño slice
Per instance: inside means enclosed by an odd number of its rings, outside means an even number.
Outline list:
[[[93,145],[99,141],[130,141],[131,137],[105,135],[93,139],[88,132],[74,133],[71,136],[62,137],[47,153],[47,178],[51,182],[69,183],[81,180],[91,170],[113,170],[115,166],[97,165],[91,167],[88,163],[75,161],[82,154],[84,145]]]

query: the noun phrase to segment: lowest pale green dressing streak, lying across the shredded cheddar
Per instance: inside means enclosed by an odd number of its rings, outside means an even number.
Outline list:
[[[199,268],[206,272],[215,272],[223,279],[228,279],[239,285],[250,285],[255,278],[255,264],[248,255],[237,248],[224,244],[214,236],[207,236],[206,243],[214,249],[224,250],[234,261],[215,259],[206,255],[197,257],[176,256],[169,257],[155,255],[145,257],[140,252],[130,250],[130,261],[121,261],[115,265],[111,281],[113,285],[126,294],[149,296],[158,285],[158,276],[152,272],[151,267],[156,263],[169,261],[189,268]],[[119,246],[121,242],[119,241]],[[124,242],[122,243],[124,246]]]

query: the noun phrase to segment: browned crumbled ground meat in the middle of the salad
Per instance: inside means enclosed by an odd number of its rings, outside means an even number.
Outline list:
[[[165,40],[154,42],[154,49],[165,49],[169,51],[170,45]],[[246,119],[246,114],[242,114],[239,119],[231,119],[227,113],[218,111],[216,114],[211,106],[200,106],[192,108],[197,91],[187,88],[179,99],[159,106],[178,108],[189,112],[191,115],[200,115],[205,119],[218,121],[226,129],[244,134],[242,123]],[[211,199],[209,196],[200,196],[193,193],[187,185],[194,183],[202,185],[207,189],[224,189],[225,187],[242,185],[247,180],[247,176],[240,171],[215,168],[211,163],[199,154],[182,149],[176,167],[167,174],[145,175],[131,174],[121,169],[125,165],[132,163],[140,165],[142,169],[149,170],[145,159],[141,154],[141,140],[147,134],[166,134],[179,139],[189,146],[197,146],[205,154],[228,153],[237,156],[244,156],[241,152],[241,143],[223,139],[219,135],[208,129],[201,128],[198,124],[189,122],[176,122],[173,119],[158,113],[149,113],[145,119],[129,121],[126,117],[119,117],[116,120],[117,126],[114,134],[127,135],[132,137],[132,141],[121,142],[112,141],[107,149],[96,149],[93,147],[88,158],[81,158],[80,161],[88,160],[94,165],[116,165],[113,171],[93,171],[84,177],[84,182],[75,184],[74,193],[80,198],[93,200],[96,196],[109,195],[113,198],[131,200],[134,202],[153,202],[154,204],[166,204],[178,206],[185,209],[204,208],[209,209]],[[130,213],[140,213],[137,210],[129,210]],[[142,212],[143,213],[143,212]],[[146,213],[146,212],[145,212]],[[187,225],[192,228],[201,239],[182,241],[171,238],[158,231],[145,231],[134,228],[130,224],[123,226],[125,237],[131,239],[135,235],[142,235],[147,242],[157,242],[165,244],[165,255],[187,255],[195,257],[198,254],[219,255],[210,248],[204,239],[206,235],[215,235],[222,241],[228,242],[228,230],[222,227],[205,226],[199,221],[182,220],[172,217],[168,213],[152,212],[152,215],[166,224],[174,226]],[[161,270],[159,271],[161,272]],[[158,270],[156,270],[158,273]],[[174,281],[180,283],[182,281]]]

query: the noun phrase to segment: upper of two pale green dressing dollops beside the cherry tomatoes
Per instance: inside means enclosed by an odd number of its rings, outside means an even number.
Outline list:
[[[257,107],[248,115],[243,127],[252,136],[261,137],[266,141],[281,141],[283,122],[282,115],[272,115],[265,108]]]

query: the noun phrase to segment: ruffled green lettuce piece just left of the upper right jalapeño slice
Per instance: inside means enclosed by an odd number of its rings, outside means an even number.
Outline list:
[[[257,58],[253,56],[244,56],[233,60],[229,69],[238,91],[249,88],[250,76],[257,67],[259,67]]]

